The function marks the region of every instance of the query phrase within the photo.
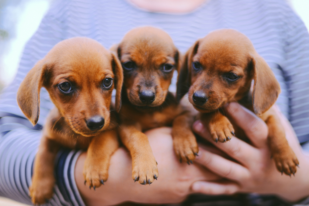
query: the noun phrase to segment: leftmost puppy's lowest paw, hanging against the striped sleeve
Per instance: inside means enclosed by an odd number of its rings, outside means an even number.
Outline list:
[[[33,179],[29,195],[33,204],[44,204],[53,197],[54,177]]]

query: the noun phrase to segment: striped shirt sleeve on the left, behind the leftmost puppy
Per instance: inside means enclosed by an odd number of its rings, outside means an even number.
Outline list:
[[[61,4],[60,4],[61,2]],[[0,96],[0,196],[32,204],[28,187],[31,185],[33,161],[41,138],[46,116],[54,107],[48,92],[40,93],[40,118],[36,126],[19,109],[16,93],[25,75],[55,44],[66,39],[65,1],[54,2],[37,32],[26,44],[17,75]],[[74,167],[82,151],[61,150],[55,161],[56,185],[47,205],[79,205],[84,202],[74,179]]]

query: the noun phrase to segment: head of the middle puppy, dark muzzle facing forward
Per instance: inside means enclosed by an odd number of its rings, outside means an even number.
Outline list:
[[[171,37],[158,28],[135,28],[124,36],[117,53],[124,71],[123,92],[129,101],[140,107],[160,106],[180,65]]]

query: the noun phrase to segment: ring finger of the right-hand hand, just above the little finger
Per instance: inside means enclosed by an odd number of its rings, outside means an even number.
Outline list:
[[[194,162],[205,166],[223,178],[236,182],[242,182],[243,179],[249,178],[249,170],[239,163],[227,160],[203,148],[199,148],[198,155]]]

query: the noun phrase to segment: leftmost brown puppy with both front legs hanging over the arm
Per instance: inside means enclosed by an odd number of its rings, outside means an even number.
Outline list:
[[[117,90],[119,110],[122,83],[123,72],[116,56],[86,37],[56,44],[27,74],[17,101],[32,124],[39,118],[41,87],[56,106],[46,119],[34,162],[29,187],[34,204],[43,204],[53,195],[54,159],[60,146],[88,148],[83,174],[90,188],[107,180],[109,159],[118,148],[117,120],[110,113],[112,90]]]

